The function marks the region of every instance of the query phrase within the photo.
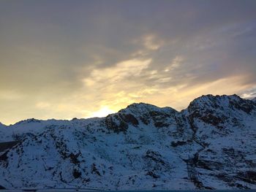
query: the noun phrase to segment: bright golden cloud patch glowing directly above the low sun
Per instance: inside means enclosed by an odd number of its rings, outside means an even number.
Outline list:
[[[94,103],[117,110],[118,105],[133,102],[143,97],[143,93],[152,91],[143,82],[137,81],[150,63],[150,58],[134,58],[105,69],[94,69],[89,77],[83,79],[84,89]]]

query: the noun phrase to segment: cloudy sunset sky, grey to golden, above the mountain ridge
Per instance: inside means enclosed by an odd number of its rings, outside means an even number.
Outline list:
[[[255,97],[255,10],[255,0],[1,0],[0,122]]]

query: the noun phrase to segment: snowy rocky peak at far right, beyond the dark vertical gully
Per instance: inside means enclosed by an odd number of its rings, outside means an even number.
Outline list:
[[[256,104],[233,96],[202,96],[187,115],[203,149],[192,157],[200,183],[213,188],[255,188]]]

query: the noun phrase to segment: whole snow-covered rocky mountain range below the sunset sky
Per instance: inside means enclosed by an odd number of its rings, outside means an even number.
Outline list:
[[[4,188],[256,188],[256,102],[236,95],[201,96],[181,112],[139,103],[106,118],[29,119],[0,133],[10,142],[0,145]]]

